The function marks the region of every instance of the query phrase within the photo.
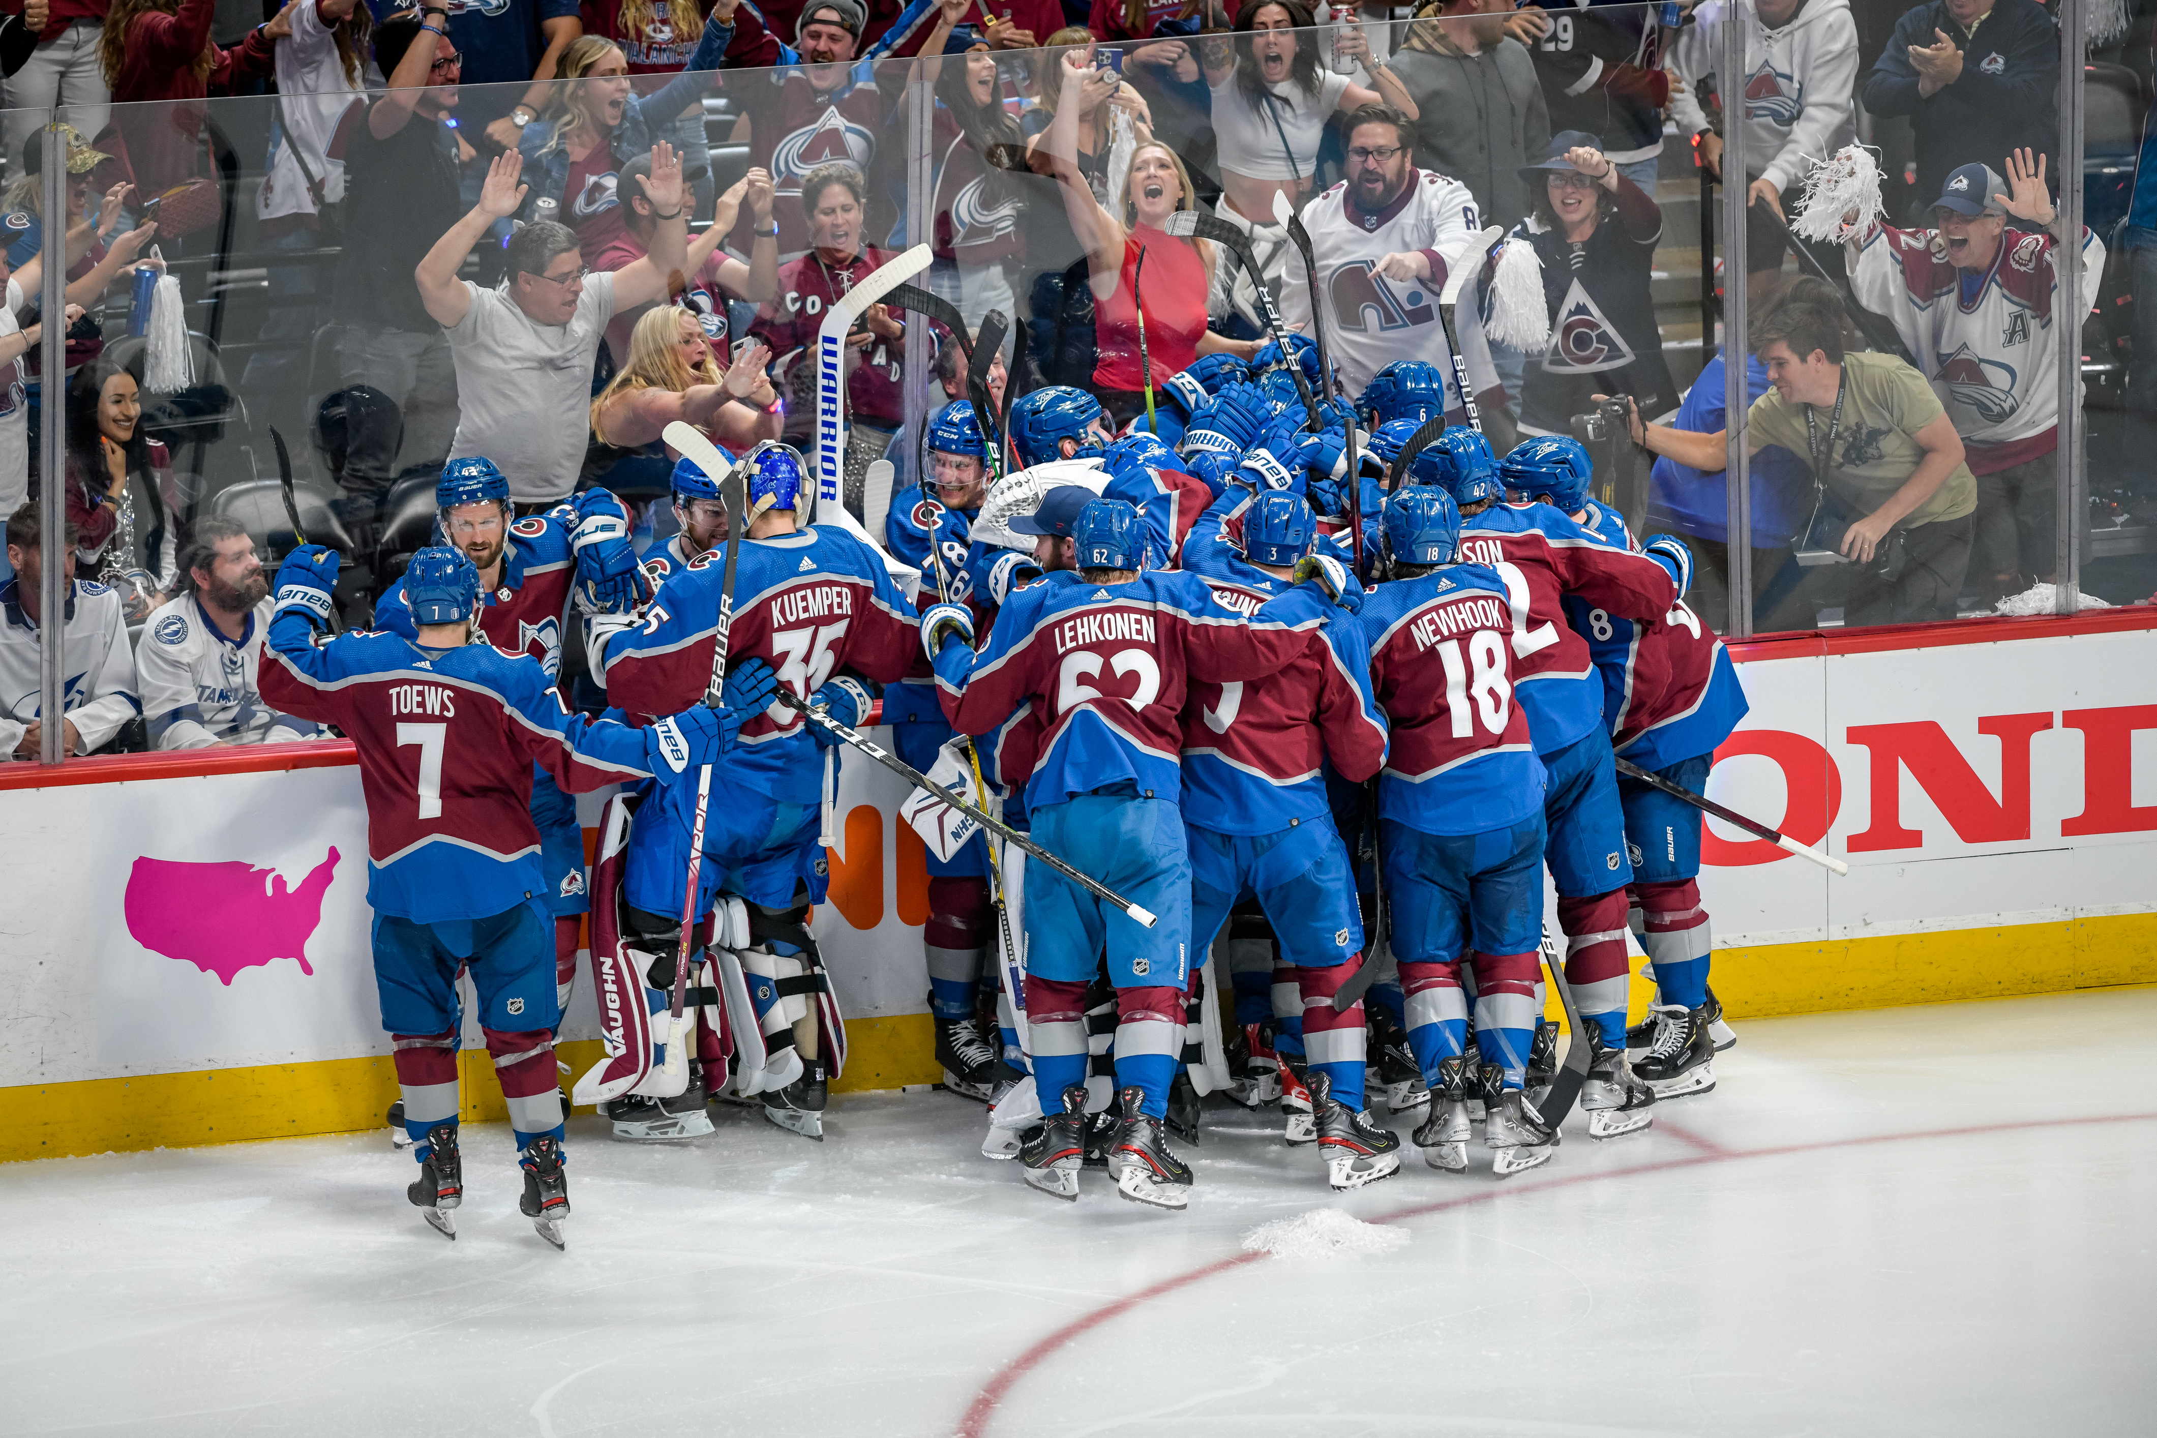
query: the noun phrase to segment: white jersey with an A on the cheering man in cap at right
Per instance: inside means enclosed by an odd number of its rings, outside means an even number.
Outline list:
[[[1894,323],[1918,358],[1954,431],[1969,444],[1969,468],[1993,474],[2053,448],[2060,423],[2060,360],[2056,334],[2082,338],[2075,306],[2064,326],[2053,321],[2060,278],[2051,235],[2019,229],[2000,233],[1991,269],[1974,280],[1976,298],[1963,300],[1963,272],[1948,259],[1939,231],[1902,231],[1874,224],[1851,257],[1857,302]],[[2105,272],[2105,246],[2082,231],[2084,295],[2094,302]],[[1984,451],[1993,451],[1987,455]]]

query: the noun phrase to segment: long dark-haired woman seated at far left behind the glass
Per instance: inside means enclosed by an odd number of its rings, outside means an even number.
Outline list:
[[[142,623],[179,578],[186,515],[173,455],[142,433],[136,377],[110,360],[67,382],[67,522],[75,563]]]

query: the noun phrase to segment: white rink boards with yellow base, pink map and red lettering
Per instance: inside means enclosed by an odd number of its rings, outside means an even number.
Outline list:
[[[1751,716],[1711,796],[1851,873],[1711,821],[1702,893],[1732,1018],[2148,979],[2153,625],[2138,610],[1741,647]],[[902,798],[889,772],[843,765],[815,916],[848,1015],[839,1089],[940,1076]],[[597,802],[580,815],[595,824]],[[347,744],[11,765],[0,845],[0,1160],[380,1123],[397,1084]],[[500,1117],[477,1050],[468,1022],[466,1112]],[[589,979],[561,1052],[574,1071],[597,1059]]]

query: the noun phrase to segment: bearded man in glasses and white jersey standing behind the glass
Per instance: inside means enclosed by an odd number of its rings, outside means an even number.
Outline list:
[[[1333,362],[1350,395],[1393,360],[1428,360],[1447,377],[1447,412],[1465,412],[1452,379],[1439,291],[1452,259],[1482,231],[1475,196],[1458,179],[1415,168],[1415,132],[1389,106],[1361,106],[1342,125],[1348,179],[1303,207],[1318,261],[1318,295]],[[1303,257],[1290,254],[1281,317],[1309,330],[1311,289]],[[1482,326],[1462,326],[1475,399],[1488,414],[1503,401]]]

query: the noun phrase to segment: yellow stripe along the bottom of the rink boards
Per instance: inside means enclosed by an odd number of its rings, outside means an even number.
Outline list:
[[[1715,996],[1734,1020],[1780,1013],[1887,1009],[1961,998],[2060,994],[2146,983],[2157,970],[2157,914],[2107,914],[1993,929],[1935,929],[1883,938],[1717,949]],[[1648,985],[1633,981],[1633,1015]],[[1555,996],[1549,1011],[1555,1013]],[[835,1093],[932,1084],[936,1031],[928,1013],[858,1018],[846,1026],[846,1078]],[[600,1043],[561,1046],[574,1082]],[[505,1121],[485,1050],[459,1054],[466,1123]],[[270,1063],[194,1074],[140,1074],[0,1089],[0,1162],[140,1151],[382,1128],[397,1097],[390,1059]]]

